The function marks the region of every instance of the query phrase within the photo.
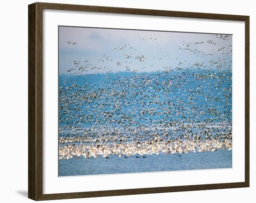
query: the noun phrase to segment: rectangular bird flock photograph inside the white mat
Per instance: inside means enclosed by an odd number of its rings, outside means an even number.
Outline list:
[[[59,177],[232,168],[232,34],[59,25],[58,40]]]

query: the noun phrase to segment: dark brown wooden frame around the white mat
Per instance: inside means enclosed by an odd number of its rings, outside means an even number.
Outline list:
[[[200,184],[128,190],[104,190],[43,194],[43,72],[42,72],[42,11],[43,9],[125,13],[198,19],[238,20],[245,22],[245,181],[224,184]],[[68,4],[34,3],[28,6],[28,197],[33,200],[103,197],[148,193],[212,190],[249,187],[249,16],[213,13],[148,10],[135,8],[81,6]]]

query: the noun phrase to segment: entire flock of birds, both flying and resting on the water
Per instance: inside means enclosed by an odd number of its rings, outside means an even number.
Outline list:
[[[231,39],[230,35],[213,36],[217,40]],[[157,41],[153,37],[140,39]],[[203,44],[211,45],[213,50],[193,48]],[[182,41],[179,50],[184,54],[189,51],[197,57],[212,58],[180,61],[163,54],[153,58],[155,63],[147,64],[148,57],[123,43],[113,50],[124,52],[124,62],[108,54],[95,58],[102,66],[88,59],[61,61],[72,65],[67,70],[72,76],[60,77],[59,159],[147,158],[151,154],[231,150],[232,51],[226,49],[212,38]],[[230,56],[230,60],[216,58],[216,54]],[[138,61],[136,66],[131,58]],[[147,71],[163,58],[170,65]],[[106,62],[113,66],[104,65]]]

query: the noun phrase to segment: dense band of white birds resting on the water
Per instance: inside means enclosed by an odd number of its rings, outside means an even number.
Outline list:
[[[77,139],[76,139],[77,140]],[[80,139],[78,139],[80,140]],[[83,140],[83,139],[81,139]],[[67,141],[67,140],[66,140]],[[131,141],[131,142],[99,142],[95,145],[83,144],[67,144],[60,147],[59,158],[106,158],[116,155],[127,159],[129,156],[136,158],[147,158],[147,155],[152,154],[174,154],[174,153],[189,153],[189,152],[215,152],[219,149],[232,149],[232,142],[229,139],[222,140],[197,140],[196,138],[164,140],[160,137],[155,137],[150,140]]]

